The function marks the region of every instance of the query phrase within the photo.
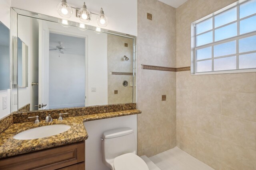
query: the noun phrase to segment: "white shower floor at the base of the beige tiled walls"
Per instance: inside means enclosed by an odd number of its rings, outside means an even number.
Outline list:
[[[161,170],[214,170],[178,147],[156,154],[149,159]]]

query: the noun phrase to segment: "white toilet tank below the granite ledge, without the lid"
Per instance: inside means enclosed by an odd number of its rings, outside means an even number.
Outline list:
[[[102,138],[102,161],[111,169],[117,156],[136,154],[134,131],[129,127],[105,131]]]

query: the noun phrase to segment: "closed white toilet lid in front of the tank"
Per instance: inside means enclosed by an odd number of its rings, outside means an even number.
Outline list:
[[[114,158],[115,170],[149,170],[146,162],[133,153],[126,153]]]

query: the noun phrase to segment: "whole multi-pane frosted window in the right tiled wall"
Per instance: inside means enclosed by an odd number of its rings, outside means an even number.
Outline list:
[[[192,23],[194,73],[256,68],[256,0],[231,6]]]

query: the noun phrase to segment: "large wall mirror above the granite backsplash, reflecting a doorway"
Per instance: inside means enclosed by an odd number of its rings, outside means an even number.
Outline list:
[[[16,110],[134,102],[134,36],[14,10],[18,13],[18,45],[13,46],[18,51]]]

